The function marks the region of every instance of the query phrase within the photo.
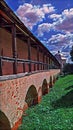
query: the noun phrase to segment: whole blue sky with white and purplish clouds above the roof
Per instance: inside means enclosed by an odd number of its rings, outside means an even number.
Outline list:
[[[73,45],[73,0],[5,0],[28,29],[55,54]]]

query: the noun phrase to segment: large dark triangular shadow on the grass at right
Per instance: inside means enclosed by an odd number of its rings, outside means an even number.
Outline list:
[[[54,109],[73,107],[73,90],[62,96],[60,99],[53,101],[51,105]]]

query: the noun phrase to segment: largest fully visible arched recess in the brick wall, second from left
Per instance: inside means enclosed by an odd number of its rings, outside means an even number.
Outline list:
[[[29,87],[25,102],[28,104],[28,107],[38,104],[38,93],[34,85]]]

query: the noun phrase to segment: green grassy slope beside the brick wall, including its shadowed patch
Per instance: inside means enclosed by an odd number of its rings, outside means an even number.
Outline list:
[[[59,78],[26,114],[19,130],[73,130],[73,75]]]

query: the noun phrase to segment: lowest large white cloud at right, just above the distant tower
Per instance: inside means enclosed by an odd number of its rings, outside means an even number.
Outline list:
[[[53,54],[60,50],[64,54],[64,56],[68,57],[70,49],[73,45],[73,34],[59,33],[56,35],[52,35],[52,37],[48,39],[46,44]]]

